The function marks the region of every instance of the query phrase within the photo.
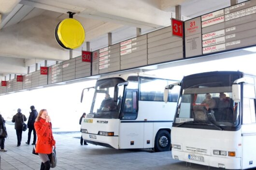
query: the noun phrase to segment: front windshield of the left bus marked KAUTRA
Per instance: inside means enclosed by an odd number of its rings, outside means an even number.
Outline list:
[[[107,78],[97,81],[90,111],[91,117],[119,118],[124,86],[117,86],[117,84],[122,82],[124,80],[121,78]]]

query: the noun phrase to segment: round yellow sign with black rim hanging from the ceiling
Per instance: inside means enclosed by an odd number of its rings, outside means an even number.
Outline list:
[[[61,47],[72,50],[84,43],[85,30],[79,21],[67,18],[56,26],[55,38]]]

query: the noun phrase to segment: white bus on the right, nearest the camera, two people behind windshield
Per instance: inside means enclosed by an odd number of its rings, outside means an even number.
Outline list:
[[[236,71],[183,78],[172,124],[172,157],[225,169],[256,167],[256,77]],[[205,97],[207,99],[205,100]]]

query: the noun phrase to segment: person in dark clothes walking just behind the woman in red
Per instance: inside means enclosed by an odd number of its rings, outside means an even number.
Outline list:
[[[35,109],[35,106],[31,105],[30,106],[31,112],[30,115],[28,117],[28,141],[26,142],[26,144],[30,143],[30,138],[31,138],[31,132],[33,131],[33,143],[32,145],[36,144],[36,130],[34,127],[34,123],[35,123],[35,119],[37,118],[38,112]]]

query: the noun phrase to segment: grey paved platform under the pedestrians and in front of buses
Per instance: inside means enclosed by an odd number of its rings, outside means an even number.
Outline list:
[[[0,152],[0,170],[40,170],[40,158],[32,154],[33,145],[17,145],[14,124],[6,124],[9,138],[7,152]],[[189,164],[171,158],[171,151],[154,152],[150,149],[117,150],[92,144],[80,145],[80,132],[57,133],[57,167],[53,170],[217,170],[213,167]]]

